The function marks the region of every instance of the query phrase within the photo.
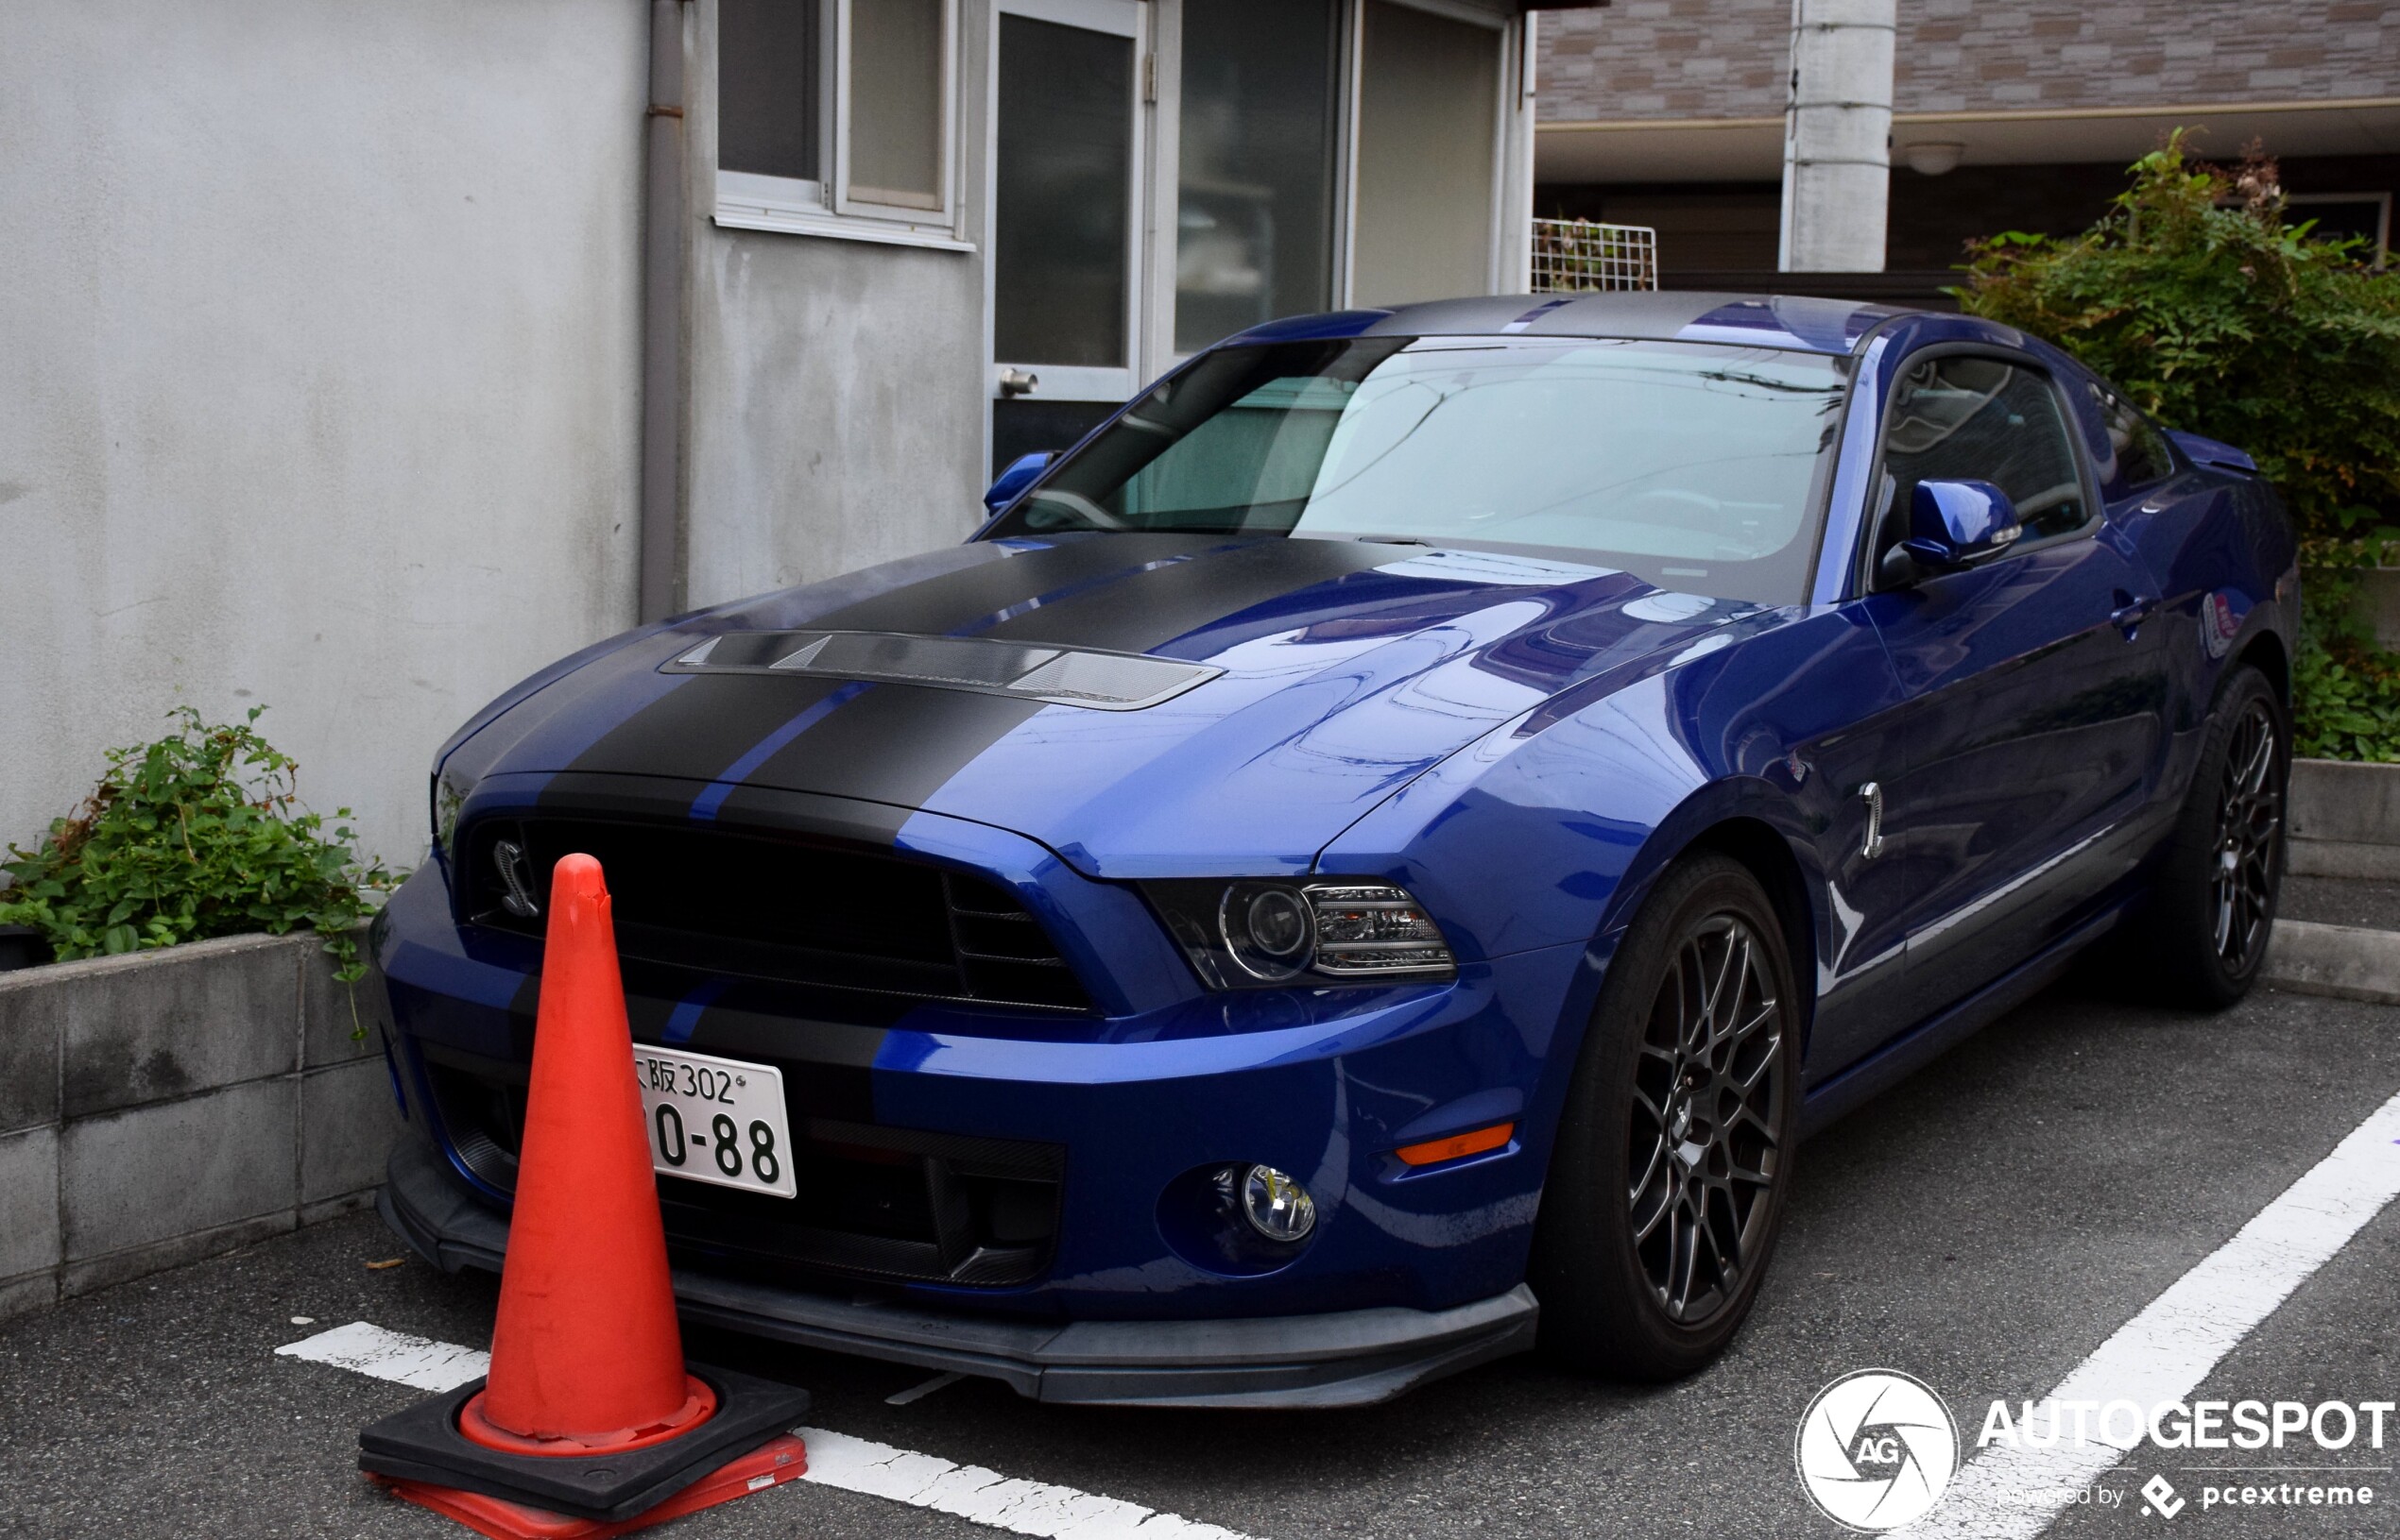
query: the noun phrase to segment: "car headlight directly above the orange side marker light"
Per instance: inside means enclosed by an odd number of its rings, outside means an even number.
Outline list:
[[[1301,883],[1142,883],[1212,988],[1447,979],[1440,926],[1404,888],[1354,878]]]

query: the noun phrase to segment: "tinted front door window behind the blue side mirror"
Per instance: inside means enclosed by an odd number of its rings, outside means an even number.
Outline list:
[[[1874,557],[1908,535],[1918,482],[1992,482],[2028,540],[2083,528],[2090,509],[2050,377],[1999,357],[1930,357],[1908,369],[1884,429]]]

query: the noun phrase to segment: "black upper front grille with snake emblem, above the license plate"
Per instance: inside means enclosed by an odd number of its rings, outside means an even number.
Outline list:
[[[504,859],[511,847],[514,861]],[[1013,892],[917,861],[602,818],[487,818],[461,835],[458,852],[461,914],[478,926],[540,936],[552,866],[583,852],[607,873],[626,960],[922,1000],[1092,1010]]]

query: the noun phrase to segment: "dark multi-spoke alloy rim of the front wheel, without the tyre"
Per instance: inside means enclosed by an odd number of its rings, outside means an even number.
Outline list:
[[[1634,1067],[1627,1207],[1668,1319],[1723,1310],[1759,1255],[1783,1166],[1783,1010],[1740,914],[1711,914],[1658,981]]]

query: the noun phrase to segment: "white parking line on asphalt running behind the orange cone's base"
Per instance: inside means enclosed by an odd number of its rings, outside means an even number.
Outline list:
[[[492,1367],[492,1355],[425,1336],[384,1331],[350,1322],[276,1348],[281,1358],[305,1358],[353,1374],[394,1379],[420,1391],[458,1389]],[[938,1382],[917,1386],[938,1389]],[[826,1427],[794,1427],[809,1444],[809,1473],[821,1487],[888,1497],[919,1509],[953,1514],[970,1523],[1049,1540],[1250,1540],[1214,1523],[1193,1523],[1118,1497],[1013,1480],[982,1466],[960,1466],[912,1449],[852,1439]]]

